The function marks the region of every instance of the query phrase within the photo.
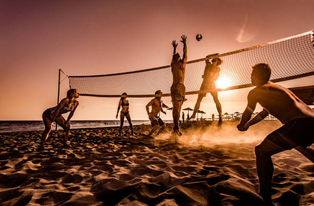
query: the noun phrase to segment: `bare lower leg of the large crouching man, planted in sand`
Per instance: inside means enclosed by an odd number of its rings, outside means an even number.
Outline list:
[[[267,203],[271,202],[271,180],[273,174],[273,164],[271,155],[285,151],[286,149],[271,142],[268,139],[264,139],[260,144],[255,147],[256,154],[256,166],[260,180],[260,192],[259,195],[263,197]]]

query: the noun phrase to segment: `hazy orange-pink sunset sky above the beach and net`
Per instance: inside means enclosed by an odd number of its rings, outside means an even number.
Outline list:
[[[41,120],[43,111],[57,104],[59,68],[76,76],[169,65],[171,41],[182,34],[187,35],[188,61],[231,52],[313,30],[312,8],[312,0],[0,0],[0,120]],[[203,40],[195,40],[196,34]],[[69,82],[64,74],[61,79],[62,99]],[[313,85],[313,79],[280,84]],[[220,92],[223,113],[242,112],[250,89]],[[186,98],[183,108],[193,108],[197,95]],[[150,99],[129,98],[133,120],[147,119]],[[119,98],[82,96],[78,101],[72,120],[115,119]],[[169,97],[163,101],[171,107]],[[210,95],[200,109],[203,117],[218,114]],[[162,118],[172,119],[167,111]]]

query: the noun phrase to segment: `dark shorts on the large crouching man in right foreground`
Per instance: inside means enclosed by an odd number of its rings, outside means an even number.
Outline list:
[[[291,120],[266,138],[287,150],[311,146],[314,143],[314,118]]]

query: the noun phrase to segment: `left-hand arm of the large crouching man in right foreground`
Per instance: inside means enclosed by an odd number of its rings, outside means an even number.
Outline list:
[[[251,90],[247,96],[247,106],[242,114],[240,124],[237,126],[240,131],[246,131],[248,129],[247,127],[245,127],[245,125],[252,117],[252,113],[256,108],[256,104],[257,101],[254,95],[254,91]]]

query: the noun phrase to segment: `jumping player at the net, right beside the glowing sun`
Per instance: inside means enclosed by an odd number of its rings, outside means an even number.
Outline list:
[[[219,77],[219,73],[220,73],[219,65],[221,65],[223,61],[220,58],[213,58],[210,63],[208,59],[209,56],[212,56],[212,55],[207,56],[204,75],[202,76],[203,82],[202,82],[200,91],[209,90],[209,93],[211,94],[216,104],[217,111],[219,113],[219,123],[222,123],[222,109],[221,109],[221,104],[218,100],[218,93],[217,93],[217,89],[216,89],[214,81],[216,81]],[[195,104],[194,111],[190,119],[195,118],[198,110],[200,109],[202,99],[206,97],[206,94],[207,93],[199,93],[197,103]]]

